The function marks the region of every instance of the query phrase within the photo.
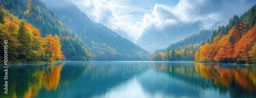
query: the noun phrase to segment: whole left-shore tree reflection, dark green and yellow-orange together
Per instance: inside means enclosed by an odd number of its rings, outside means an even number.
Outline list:
[[[12,67],[9,70],[8,94],[4,97],[36,97],[39,90],[56,90],[60,80],[62,63]],[[2,91],[2,90],[1,90]]]

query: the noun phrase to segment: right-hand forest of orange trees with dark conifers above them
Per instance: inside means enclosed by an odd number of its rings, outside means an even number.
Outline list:
[[[241,17],[234,15],[226,26],[212,33],[195,54],[195,61],[256,63],[256,6]]]

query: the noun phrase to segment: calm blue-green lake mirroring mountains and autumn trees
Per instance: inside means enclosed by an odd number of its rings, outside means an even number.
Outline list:
[[[1,85],[4,68],[1,66]],[[256,97],[256,68],[167,61],[61,61],[8,69],[0,97]]]

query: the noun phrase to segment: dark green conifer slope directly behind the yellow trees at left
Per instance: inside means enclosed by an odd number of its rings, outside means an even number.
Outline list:
[[[39,0],[2,0],[0,8],[8,10],[19,19],[25,19],[38,28],[43,38],[56,35],[60,39],[61,50],[66,60],[90,60],[86,45],[75,34],[63,26],[61,21]]]

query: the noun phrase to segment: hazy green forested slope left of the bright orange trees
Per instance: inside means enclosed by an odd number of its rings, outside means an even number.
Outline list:
[[[152,55],[152,60],[194,60],[195,53],[199,49],[197,44],[204,44],[210,38],[212,32],[216,34],[217,31],[206,29],[202,30],[199,34],[189,35],[184,40],[169,45],[166,49],[157,50]],[[159,56],[161,53],[164,55],[164,58],[160,59],[162,57]]]

